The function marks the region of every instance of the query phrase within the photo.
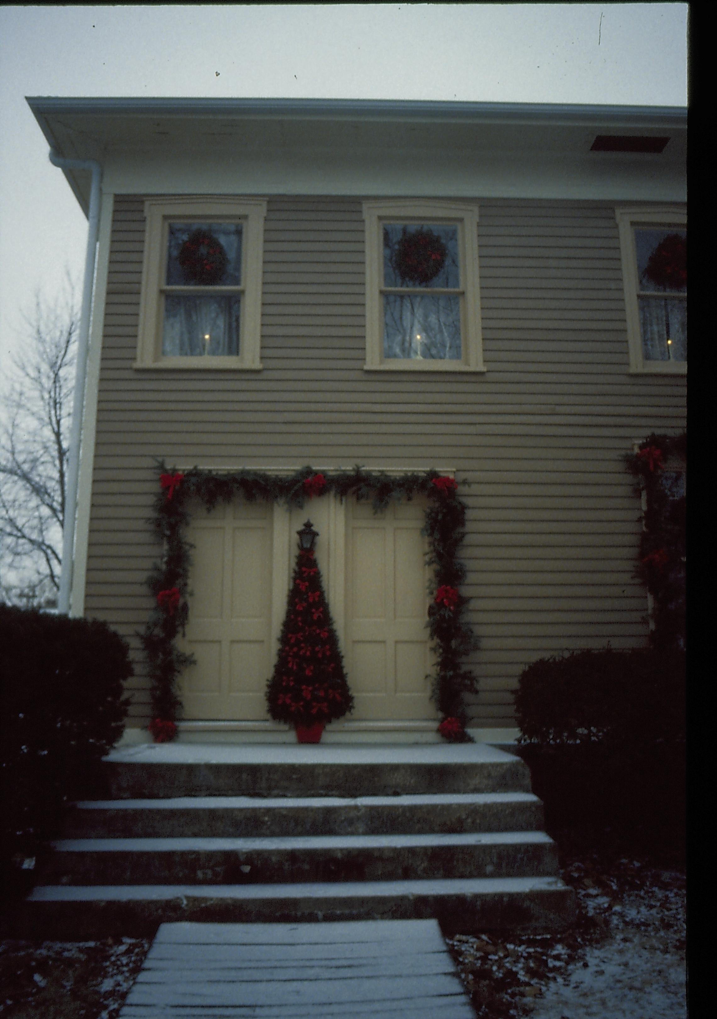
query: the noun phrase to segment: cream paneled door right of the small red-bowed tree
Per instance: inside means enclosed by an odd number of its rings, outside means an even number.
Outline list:
[[[425,506],[346,504],[344,658],[361,720],[432,719]]]

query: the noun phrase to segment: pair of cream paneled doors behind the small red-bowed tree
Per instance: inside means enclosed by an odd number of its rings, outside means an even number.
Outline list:
[[[323,496],[287,511],[243,500],[198,507],[191,550],[189,622],[182,649],[197,664],[182,676],[183,717],[266,719],[271,676],[296,556],[310,518],[317,561],[354,697],[355,721],[436,717],[427,674],[428,569],[425,506]]]

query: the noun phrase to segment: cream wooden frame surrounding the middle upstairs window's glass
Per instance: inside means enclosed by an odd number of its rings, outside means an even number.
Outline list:
[[[364,202],[366,224],[366,371],[485,372],[478,273],[478,207],[455,202],[417,200]],[[460,267],[459,361],[384,358],[383,225],[440,223],[458,227]],[[426,293],[431,293],[426,289]]]

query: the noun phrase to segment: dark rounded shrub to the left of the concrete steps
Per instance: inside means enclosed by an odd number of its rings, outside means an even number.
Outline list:
[[[128,647],[96,620],[0,605],[0,868],[25,891],[65,805],[99,792],[122,734]]]

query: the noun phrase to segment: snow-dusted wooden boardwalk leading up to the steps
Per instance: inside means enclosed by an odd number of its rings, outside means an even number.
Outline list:
[[[475,1019],[436,920],[163,923],[120,1019]]]

